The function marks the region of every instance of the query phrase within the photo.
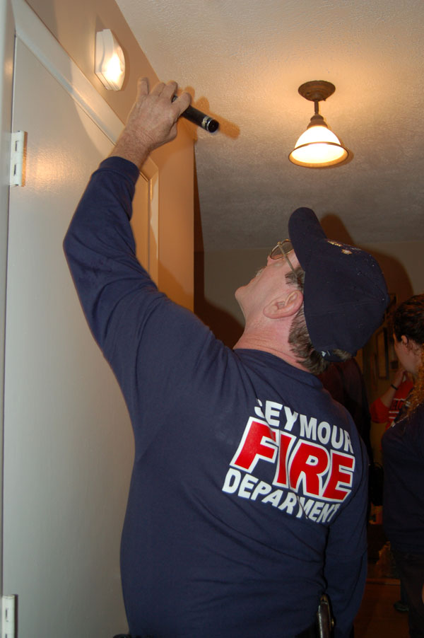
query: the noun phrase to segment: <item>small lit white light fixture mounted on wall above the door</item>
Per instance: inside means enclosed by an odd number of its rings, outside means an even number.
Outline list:
[[[122,87],[125,77],[124,52],[110,29],[95,34],[94,71],[108,90],[119,91]]]

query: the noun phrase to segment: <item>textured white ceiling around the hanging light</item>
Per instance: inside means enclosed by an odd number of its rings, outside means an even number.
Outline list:
[[[196,129],[205,250],[271,246],[300,206],[359,245],[424,240],[423,0],[117,4],[158,77],[220,122]],[[314,112],[298,86],[316,79],[336,85],[320,112],[344,166],[288,161]]]

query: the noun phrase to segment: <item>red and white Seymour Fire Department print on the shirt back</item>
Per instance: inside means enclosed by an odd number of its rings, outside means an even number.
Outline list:
[[[254,412],[222,491],[328,524],[351,491],[355,458],[349,432],[276,401],[257,399]],[[289,434],[293,429],[295,434]],[[275,465],[272,483],[254,475],[259,460]]]

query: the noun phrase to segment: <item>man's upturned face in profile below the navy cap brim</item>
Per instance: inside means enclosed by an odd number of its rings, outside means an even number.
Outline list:
[[[290,252],[289,259],[293,268],[297,268],[299,262],[294,250]],[[288,284],[285,279],[288,272],[291,272],[291,269],[285,257],[281,256],[281,259],[268,257],[266,266],[259,270],[248,284],[237,288],[235,298],[245,320],[252,318],[255,313],[262,313],[268,303],[282,296],[285,291],[289,293],[293,290],[293,284]]]

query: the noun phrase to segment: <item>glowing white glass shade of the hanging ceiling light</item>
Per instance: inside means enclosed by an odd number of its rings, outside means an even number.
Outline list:
[[[317,125],[302,133],[288,158],[299,166],[320,168],[343,162],[347,156],[348,151],[341,146],[338,137],[326,127]]]

